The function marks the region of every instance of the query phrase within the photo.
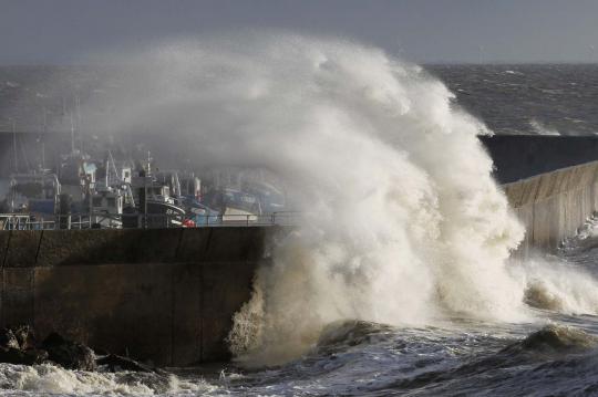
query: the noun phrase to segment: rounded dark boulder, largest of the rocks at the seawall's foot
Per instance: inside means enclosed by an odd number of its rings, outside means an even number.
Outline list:
[[[48,335],[42,344],[50,361],[69,369],[95,370],[95,354],[87,346],[63,338],[56,333]]]

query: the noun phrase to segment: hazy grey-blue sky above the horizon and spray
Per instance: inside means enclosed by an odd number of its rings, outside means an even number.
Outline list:
[[[0,64],[283,29],[420,63],[598,62],[598,0],[0,0]]]

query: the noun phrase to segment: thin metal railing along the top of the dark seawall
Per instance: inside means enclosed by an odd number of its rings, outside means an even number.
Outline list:
[[[55,230],[55,229],[156,229],[156,228],[216,228],[295,226],[299,212],[285,211],[262,215],[181,215],[163,213],[71,213],[32,216],[0,213],[0,230]]]

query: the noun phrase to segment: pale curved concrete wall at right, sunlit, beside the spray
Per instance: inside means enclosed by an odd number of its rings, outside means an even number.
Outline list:
[[[554,251],[598,210],[598,161],[563,168],[504,185],[509,203],[526,227],[517,250]]]

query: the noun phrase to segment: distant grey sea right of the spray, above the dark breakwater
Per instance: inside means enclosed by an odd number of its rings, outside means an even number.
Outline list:
[[[598,65],[435,65],[457,102],[496,134],[598,132]]]

